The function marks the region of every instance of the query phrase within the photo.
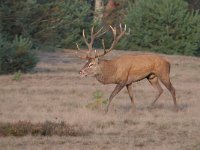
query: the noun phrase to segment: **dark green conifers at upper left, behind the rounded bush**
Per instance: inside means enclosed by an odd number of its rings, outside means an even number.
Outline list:
[[[73,47],[88,28],[89,5],[82,0],[2,0],[0,32],[9,40],[22,35],[34,47]],[[51,48],[52,49],[52,48]]]

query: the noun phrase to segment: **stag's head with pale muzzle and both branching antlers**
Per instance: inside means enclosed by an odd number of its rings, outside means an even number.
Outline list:
[[[87,63],[83,66],[83,68],[79,72],[79,74],[81,76],[88,76],[88,75],[95,76],[96,74],[98,74],[100,72],[98,58],[102,57],[102,56],[106,55],[107,53],[109,53],[110,51],[112,51],[114,49],[115,45],[119,42],[120,38],[124,34],[126,34],[126,25],[123,28],[120,24],[119,27],[120,27],[120,33],[117,35],[116,27],[110,26],[110,29],[113,34],[113,42],[112,42],[110,48],[106,49],[104,39],[102,39],[102,46],[103,46],[103,50],[104,50],[102,53],[98,53],[95,49],[93,49],[93,43],[94,43],[95,38],[102,36],[103,34],[106,33],[106,31],[102,32],[103,28],[101,28],[96,33],[94,33],[94,27],[92,27],[91,28],[91,40],[90,40],[90,43],[88,43],[86,36],[85,36],[85,31],[83,30],[83,39],[88,47],[88,50],[82,56],[78,55],[78,51],[76,52],[77,57],[87,60]],[[77,45],[78,50],[80,50],[78,44],[76,44],[76,45]]]

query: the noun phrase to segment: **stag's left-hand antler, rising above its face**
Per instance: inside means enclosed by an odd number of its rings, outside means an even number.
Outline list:
[[[90,43],[87,41],[87,38],[85,36],[85,30],[83,29],[83,39],[84,39],[84,42],[85,44],[87,45],[88,47],[88,51],[86,52],[86,55],[85,56],[79,56],[78,55],[78,52],[76,52],[76,55],[77,57],[81,58],[81,59],[90,59],[90,58],[95,58],[95,56],[91,56],[91,53],[92,53],[92,47],[93,47],[93,43],[94,43],[94,40],[95,38],[97,37],[100,37],[102,36],[103,34],[106,33],[106,31],[102,32],[101,31],[103,30],[103,27],[101,29],[99,29],[96,33],[94,33],[94,26],[91,28],[91,39],[90,39]],[[76,46],[77,46],[77,49],[80,50],[78,44],[76,43]],[[96,52],[95,52],[96,53]]]

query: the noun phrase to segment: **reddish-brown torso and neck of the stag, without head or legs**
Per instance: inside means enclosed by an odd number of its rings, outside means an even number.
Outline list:
[[[104,84],[131,83],[169,68],[169,63],[157,55],[123,55],[99,65],[101,71],[96,78]]]

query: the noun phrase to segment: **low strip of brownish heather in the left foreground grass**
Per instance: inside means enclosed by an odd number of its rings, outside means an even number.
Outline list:
[[[18,121],[16,123],[0,123],[0,137],[2,136],[83,136],[90,131],[84,131],[77,125],[65,122],[55,123],[46,121],[44,123],[31,123],[30,121]]]

